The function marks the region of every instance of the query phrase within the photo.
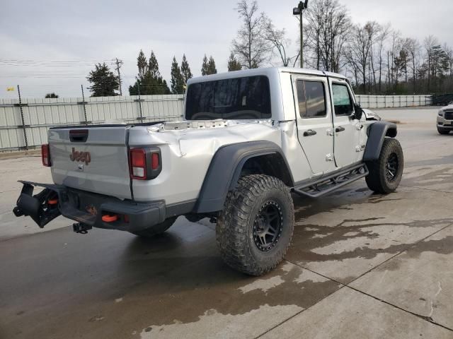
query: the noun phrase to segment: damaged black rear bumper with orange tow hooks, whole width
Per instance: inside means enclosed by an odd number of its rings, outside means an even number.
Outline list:
[[[137,232],[173,216],[167,215],[164,201],[134,203],[62,185],[21,183],[23,189],[13,213],[16,216],[30,216],[40,227],[44,227],[57,216],[64,215],[89,227]],[[44,190],[33,195],[36,186]],[[103,215],[117,215],[117,220],[105,222]]]

